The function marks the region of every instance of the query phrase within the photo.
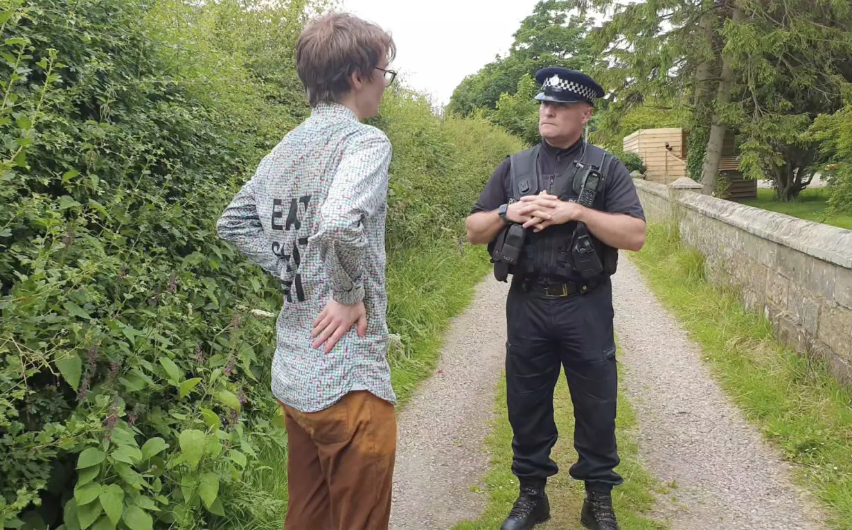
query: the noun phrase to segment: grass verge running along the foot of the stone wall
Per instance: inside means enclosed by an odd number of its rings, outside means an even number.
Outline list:
[[[653,225],[634,256],[654,292],[705,352],[728,394],[763,435],[780,447],[797,481],[826,507],[829,524],[852,521],[852,391],[826,366],[774,339],[762,314],[736,292],[711,285],[698,251],[675,228]]]

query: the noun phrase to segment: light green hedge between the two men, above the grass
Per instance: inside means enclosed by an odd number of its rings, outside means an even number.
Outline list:
[[[440,119],[423,96],[392,87],[371,120],[400,154],[389,170],[389,251],[461,237],[487,178],[523,145],[484,118]]]

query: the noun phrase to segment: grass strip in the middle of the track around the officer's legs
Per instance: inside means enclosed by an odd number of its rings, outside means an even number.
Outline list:
[[[463,521],[453,530],[492,530],[500,527],[517,497],[518,481],[511,471],[512,429],[506,410],[504,378],[501,378],[497,394],[495,406],[498,417],[494,421],[491,435],[486,440],[486,446],[492,455],[491,470],[485,478],[488,495],[486,510],[478,520]],[[573,407],[564,372],[556,384],[554,409],[556,426],[561,435],[551,452],[551,458],[559,464],[560,472],[548,481],[547,486],[551,519],[536,528],[582,528],[579,515],[583,505],[584,486],[567,473],[567,469],[577,459],[577,452],[573,448]],[[613,490],[613,506],[616,516],[619,517],[619,524],[630,530],[665,530],[668,528],[665,522],[655,521],[650,516],[655,502],[653,492],[663,490],[638,461],[638,447],[634,435],[636,416],[623,394],[619,396],[618,411],[616,425],[621,464],[616,470],[625,479],[623,485]]]

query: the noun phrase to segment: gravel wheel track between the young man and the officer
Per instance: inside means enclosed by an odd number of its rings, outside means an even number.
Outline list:
[[[504,368],[507,291],[491,276],[477,285],[446,332],[435,374],[400,411],[392,530],[448,530],[485,509],[470,488],[488,470],[484,439]]]

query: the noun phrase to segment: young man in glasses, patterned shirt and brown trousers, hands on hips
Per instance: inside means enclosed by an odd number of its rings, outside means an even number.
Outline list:
[[[311,115],[263,158],[217,224],[285,292],[272,391],[285,411],[285,530],[387,528],[396,397],[386,359],[387,136],[393,39],[325,15],[296,45]]]

